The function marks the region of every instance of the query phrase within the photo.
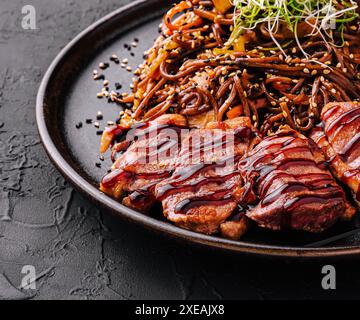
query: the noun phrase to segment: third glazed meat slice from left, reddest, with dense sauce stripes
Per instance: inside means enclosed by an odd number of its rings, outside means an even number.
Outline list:
[[[239,170],[244,185],[238,200],[253,204],[246,215],[262,227],[320,232],[353,211],[321,150],[291,129],[266,137],[239,162]]]

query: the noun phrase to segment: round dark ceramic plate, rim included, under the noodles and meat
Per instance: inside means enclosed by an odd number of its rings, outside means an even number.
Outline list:
[[[107,158],[99,162],[100,136],[86,119],[95,119],[102,110],[106,120],[114,120],[120,108],[96,98],[102,81],[92,79],[93,69],[109,61],[112,53],[128,58],[136,67],[142,61],[158,33],[162,13],[171,4],[164,0],[140,0],[109,14],[77,36],[57,56],[47,71],[37,97],[37,124],[45,149],[62,174],[77,189],[120,217],[193,243],[233,252],[292,257],[343,256],[360,253],[360,239],[354,223],[337,224],[321,235],[276,233],[253,228],[242,241],[230,241],[180,229],[164,221],[159,210],[150,215],[131,210],[98,191],[98,182],[110,167]],[[139,39],[136,47],[124,45]],[[112,83],[120,82],[127,90],[133,77],[111,62],[103,72]],[[111,88],[113,89],[113,88]],[[76,125],[82,122],[82,128]]]

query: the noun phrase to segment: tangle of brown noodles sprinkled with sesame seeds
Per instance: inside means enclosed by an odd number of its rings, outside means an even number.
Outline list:
[[[233,14],[233,7],[217,11],[213,1],[175,4],[137,70],[132,95],[112,99],[130,104],[134,121],[164,113],[213,112],[218,121],[244,115],[264,134],[282,124],[309,132],[328,102],[360,99],[359,20],[345,25],[344,39],[334,31],[331,45],[299,25],[307,58],[294,37],[276,34],[285,58],[265,24],[226,47]]]

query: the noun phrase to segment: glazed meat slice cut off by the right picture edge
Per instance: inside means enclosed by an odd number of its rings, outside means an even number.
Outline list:
[[[312,133],[324,150],[334,175],[360,204],[360,103],[329,103],[321,113],[323,126]]]

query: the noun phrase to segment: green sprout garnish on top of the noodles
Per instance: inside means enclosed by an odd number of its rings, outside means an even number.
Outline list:
[[[344,38],[345,24],[358,18],[355,1],[340,0],[233,0],[235,6],[234,30],[227,44],[231,45],[246,30],[265,24],[270,37],[286,56],[275,37],[284,24],[294,33],[294,38],[305,57],[299,36],[299,23],[305,22],[312,30],[309,36],[319,35],[326,43],[333,43],[332,30],[337,29]],[[343,44],[342,44],[343,45]]]

